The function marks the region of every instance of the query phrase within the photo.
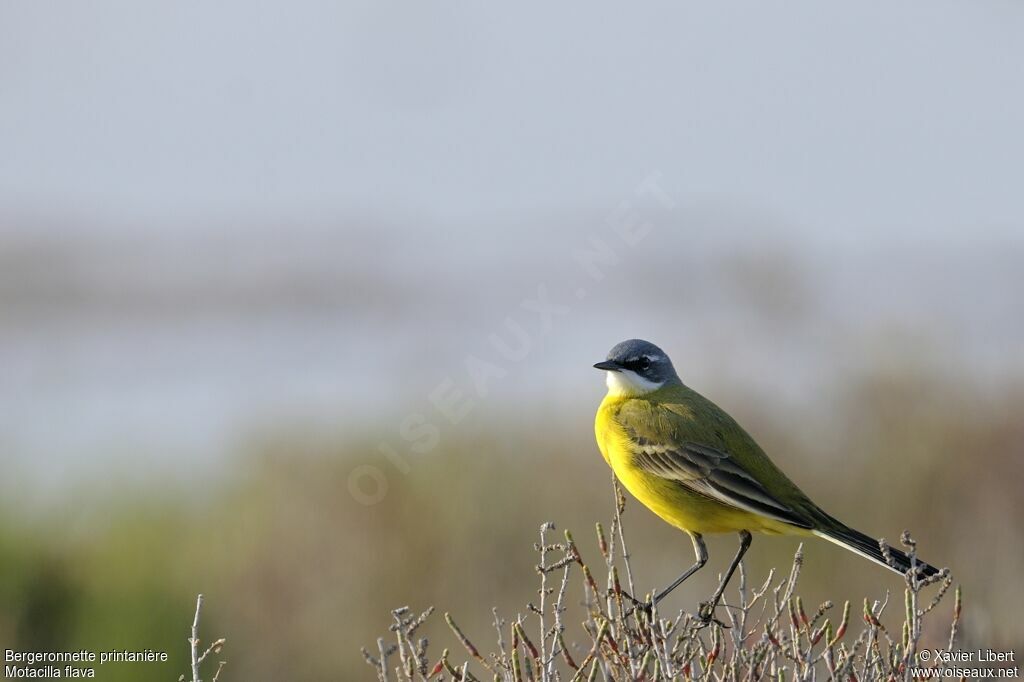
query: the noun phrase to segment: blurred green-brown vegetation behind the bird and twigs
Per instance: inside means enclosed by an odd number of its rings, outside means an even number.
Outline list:
[[[738,387],[707,392],[823,507],[894,542],[908,527],[925,559],[950,566],[965,586],[962,641],[1019,644],[1024,382],[983,385],[927,357],[869,367],[851,369],[822,396],[827,420],[744,398]],[[372,647],[389,609],[406,604],[436,605],[490,638],[492,606],[512,616],[536,598],[538,526],[573,529],[596,556],[593,524],[611,513],[609,472],[590,425],[546,408],[518,408],[501,427],[467,420],[433,452],[410,456],[404,474],[377,452],[390,423],[293,424],[253,434],[226,476],[196,491],[154,481],[115,486],[124,492],[102,502],[82,491],[32,518],[7,500],[0,641],[166,649],[166,666],[118,665],[101,679],[176,679],[187,668],[198,592],[207,596],[206,641],[227,638],[226,680],[368,679],[359,646]],[[352,466],[364,462],[388,478],[377,505],[347,492]],[[689,542],[637,504],[625,523],[641,589],[689,562]],[[712,539],[713,565],[724,565],[734,543]],[[752,574],[786,567],[795,547],[755,538]],[[859,604],[901,589],[898,578],[826,543],[809,540],[806,552],[801,592],[809,602]],[[670,607],[692,608],[714,573],[678,590]],[[432,641],[447,641],[440,619],[430,628]]]

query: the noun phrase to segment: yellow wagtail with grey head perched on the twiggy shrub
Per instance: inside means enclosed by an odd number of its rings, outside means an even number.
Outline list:
[[[714,402],[679,380],[672,360],[647,341],[623,341],[594,366],[606,372],[608,394],[594,424],[604,460],[623,485],[664,520],[689,534],[696,562],[653,597],[650,608],[708,562],[703,536],[738,532],[739,551],[711,600],[711,622],[729,579],[751,546],[751,531],[817,536],[891,568],[910,559],[825,513],[776,467],[754,438]],[[939,572],[915,562],[921,577]],[[634,599],[634,601],[636,601]]]

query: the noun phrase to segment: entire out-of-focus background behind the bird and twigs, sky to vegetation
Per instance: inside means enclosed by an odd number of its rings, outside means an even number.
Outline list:
[[[630,337],[1024,640],[1024,7],[517,10],[0,6],[3,646],[175,679],[198,592],[223,679],[371,678],[406,604],[489,641],[543,521],[596,558]],[[807,555],[809,602],[900,590]]]

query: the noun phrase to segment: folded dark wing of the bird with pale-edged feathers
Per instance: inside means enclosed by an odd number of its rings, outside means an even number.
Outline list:
[[[662,445],[631,435],[633,463],[648,473],[731,507],[801,528],[811,527],[807,520],[772,497],[728,453],[696,442]]]

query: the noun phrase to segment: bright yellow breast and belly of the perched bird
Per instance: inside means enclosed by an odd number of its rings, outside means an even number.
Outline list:
[[[594,425],[601,455],[626,489],[666,522],[680,530],[699,534],[738,530],[784,535],[800,532],[787,523],[730,507],[678,481],[634,466],[629,436],[611,418],[605,403],[598,411]]]

